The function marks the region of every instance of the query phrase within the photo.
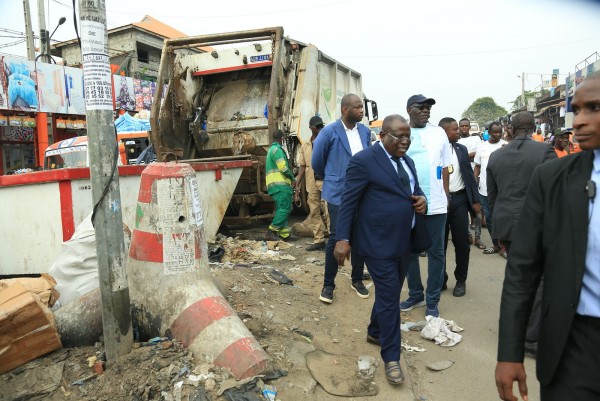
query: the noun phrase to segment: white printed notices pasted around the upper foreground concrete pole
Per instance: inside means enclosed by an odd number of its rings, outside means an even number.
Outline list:
[[[112,111],[112,85],[106,26],[81,20],[81,59],[87,110]]]

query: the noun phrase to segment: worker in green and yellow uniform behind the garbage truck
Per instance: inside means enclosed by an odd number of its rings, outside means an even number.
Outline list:
[[[286,240],[290,237],[288,219],[292,212],[293,187],[296,184],[287,155],[281,147],[284,138],[285,134],[282,130],[277,129],[273,132],[273,143],[265,161],[267,193],[275,202],[273,221],[267,230],[267,239],[273,241]]]

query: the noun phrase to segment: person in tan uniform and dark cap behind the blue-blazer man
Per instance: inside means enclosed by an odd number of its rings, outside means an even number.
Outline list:
[[[312,245],[306,247],[307,251],[325,250],[325,232],[327,230],[329,218],[324,202],[321,200],[321,191],[323,191],[323,180],[315,178],[315,172],[311,167],[313,143],[319,132],[324,127],[323,119],[319,116],[313,116],[308,122],[308,127],[312,132],[310,140],[305,141],[298,152],[298,165],[300,171],[296,176],[296,182],[301,182],[304,178],[306,184],[306,193],[308,201],[308,221],[313,232],[314,241]],[[299,194],[300,188],[296,187],[296,196]]]

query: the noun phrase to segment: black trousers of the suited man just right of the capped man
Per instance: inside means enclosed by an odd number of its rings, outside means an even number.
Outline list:
[[[456,281],[467,281],[471,246],[469,245],[469,197],[466,192],[459,192],[450,198],[448,214],[446,215],[444,251],[448,250],[448,236],[450,232],[452,232],[452,244],[454,244],[454,252],[456,254],[454,278],[456,278]],[[444,264],[444,283],[448,281],[448,273],[446,273],[447,264],[447,262]]]

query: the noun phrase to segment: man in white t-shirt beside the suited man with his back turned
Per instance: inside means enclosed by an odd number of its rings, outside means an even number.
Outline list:
[[[506,141],[502,139],[502,125],[500,125],[498,121],[491,123],[488,128],[488,133],[489,139],[486,142],[482,142],[475,153],[475,179],[479,180],[481,208],[483,209],[485,222],[493,243],[493,246],[485,249],[483,253],[492,254],[500,252],[500,244],[498,243],[498,240],[492,236],[492,214],[490,213],[490,207],[487,200],[486,171],[490,155],[505,145]]]

